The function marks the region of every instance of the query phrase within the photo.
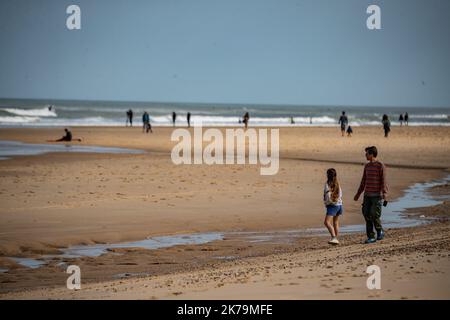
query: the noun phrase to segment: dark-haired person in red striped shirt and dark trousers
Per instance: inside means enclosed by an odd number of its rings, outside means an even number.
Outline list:
[[[374,243],[384,238],[384,231],[381,226],[381,211],[382,205],[387,205],[386,194],[388,187],[386,167],[377,160],[377,148],[375,146],[367,147],[365,151],[366,159],[369,162],[364,166],[361,184],[359,185],[354,200],[358,201],[359,196],[364,192],[362,214],[366,220],[367,240],[365,243]],[[377,232],[376,238],[374,228]]]

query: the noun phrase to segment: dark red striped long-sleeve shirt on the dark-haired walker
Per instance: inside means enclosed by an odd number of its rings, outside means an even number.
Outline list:
[[[388,192],[386,167],[379,161],[364,166],[364,173],[358,189],[358,197],[364,191],[366,196],[379,196]]]

